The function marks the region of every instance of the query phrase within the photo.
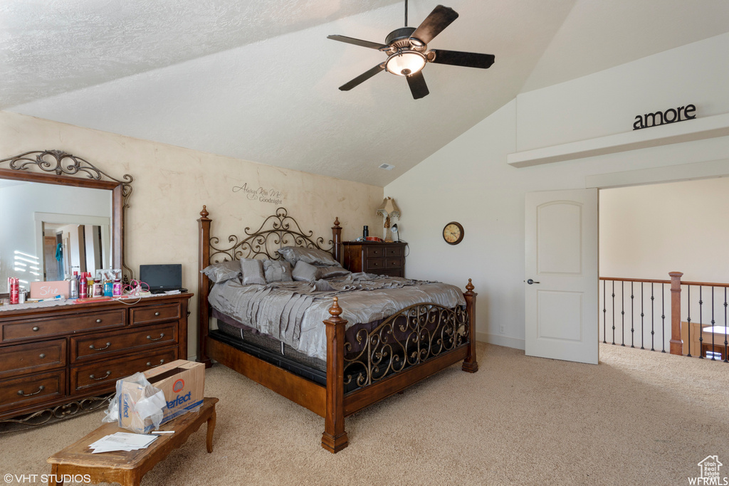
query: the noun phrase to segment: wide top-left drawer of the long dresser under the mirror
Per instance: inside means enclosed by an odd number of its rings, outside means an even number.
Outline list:
[[[4,324],[2,339],[3,341],[37,339],[57,334],[122,326],[124,326],[124,310],[122,309],[104,310],[98,313],[67,314]]]

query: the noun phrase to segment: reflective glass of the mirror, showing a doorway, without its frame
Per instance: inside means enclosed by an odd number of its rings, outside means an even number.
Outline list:
[[[0,293],[112,266],[112,191],[0,179]]]

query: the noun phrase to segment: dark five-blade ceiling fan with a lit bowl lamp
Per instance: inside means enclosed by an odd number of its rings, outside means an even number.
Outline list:
[[[413,98],[417,100],[430,93],[422,72],[426,63],[451,64],[451,66],[481,69],[491,67],[491,64],[494,63],[494,55],[491,54],[440,49],[428,50],[428,43],[457,18],[458,13],[451,7],[438,5],[418,28],[408,27],[408,0],[405,0],[405,27],[396,28],[387,34],[384,44],[347,36],[327,36],[327,39],[370,47],[370,49],[382,51],[387,55],[385,62],[341,85],[339,89],[342,91],[351,90],[380,71],[386,70],[392,74],[397,74],[397,76],[404,76],[408,80],[408,86],[410,92],[413,93]]]

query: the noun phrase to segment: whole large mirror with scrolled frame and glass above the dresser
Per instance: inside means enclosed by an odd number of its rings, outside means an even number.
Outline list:
[[[7,279],[59,281],[74,271],[120,268],[133,177],[115,179],[60,150],[0,160],[0,294]]]

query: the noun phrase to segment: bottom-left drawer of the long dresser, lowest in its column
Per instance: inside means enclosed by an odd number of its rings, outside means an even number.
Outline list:
[[[66,395],[66,370],[0,381],[0,412]]]

